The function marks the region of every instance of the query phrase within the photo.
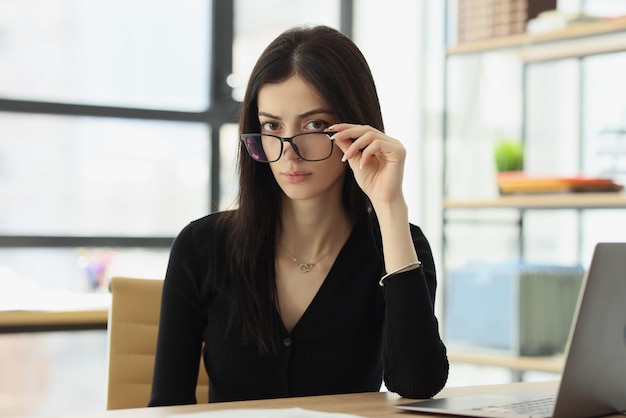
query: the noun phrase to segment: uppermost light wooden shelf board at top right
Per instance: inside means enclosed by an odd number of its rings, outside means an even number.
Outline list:
[[[467,42],[447,49],[447,54],[463,55],[508,50],[525,62],[576,58],[626,51],[626,19],[573,24],[546,33],[490,38]]]

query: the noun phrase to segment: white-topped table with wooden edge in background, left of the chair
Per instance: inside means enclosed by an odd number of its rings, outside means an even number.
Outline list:
[[[0,304],[0,334],[107,327],[110,294],[38,291],[15,295]]]

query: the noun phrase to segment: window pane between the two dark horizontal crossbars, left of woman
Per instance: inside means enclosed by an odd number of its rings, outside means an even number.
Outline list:
[[[208,211],[206,125],[0,113],[5,234],[173,235]]]

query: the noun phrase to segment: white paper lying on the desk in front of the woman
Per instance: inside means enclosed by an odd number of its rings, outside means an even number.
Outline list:
[[[230,409],[224,411],[192,412],[172,415],[171,418],[363,418],[359,415],[311,411],[302,408]]]

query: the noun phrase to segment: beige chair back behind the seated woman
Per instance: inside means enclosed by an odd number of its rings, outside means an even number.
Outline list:
[[[152,388],[163,280],[113,277],[108,322],[107,409],[142,408]],[[199,403],[208,402],[209,379],[200,359]]]

